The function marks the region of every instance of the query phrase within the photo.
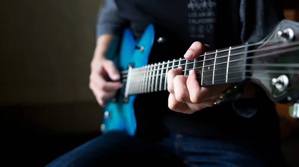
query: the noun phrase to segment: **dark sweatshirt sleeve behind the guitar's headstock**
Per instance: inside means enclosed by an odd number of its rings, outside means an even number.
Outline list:
[[[241,0],[240,19],[242,42],[258,42],[284,19],[282,0]]]

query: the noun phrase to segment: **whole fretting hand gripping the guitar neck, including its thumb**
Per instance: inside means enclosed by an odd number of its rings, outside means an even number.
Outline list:
[[[201,53],[209,51],[210,47],[200,42],[194,42],[184,57],[188,60],[197,58]],[[191,114],[195,111],[214,105],[223,90],[230,84],[209,87],[199,86],[194,70],[189,71],[189,76],[182,76],[182,68],[168,71],[167,89],[170,92],[168,107],[177,112]]]

